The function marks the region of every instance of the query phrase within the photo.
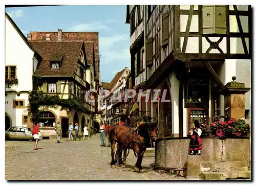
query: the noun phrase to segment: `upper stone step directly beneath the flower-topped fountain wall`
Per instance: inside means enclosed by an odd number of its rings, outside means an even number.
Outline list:
[[[201,161],[200,171],[248,171],[248,165],[244,161]]]

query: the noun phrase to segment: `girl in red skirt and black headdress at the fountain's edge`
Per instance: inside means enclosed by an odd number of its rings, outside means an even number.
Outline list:
[[[195,128],[190,130],[191,140],[190,140],[190,148],[191,155],[195,155],[195,150],[198,151],[198,155],[201,155],[201,150],[203,148],[203,144],[201,142],[201,134],[202,130],[200,129],[200,124],[197,120],[195,120]]]

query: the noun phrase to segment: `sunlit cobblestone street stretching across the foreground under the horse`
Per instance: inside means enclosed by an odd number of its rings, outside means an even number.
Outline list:
[[[130,151],[126,168],[110,168],[111,148],[100,147],[99,134],[89,140],[61,143],[6,141],[6,180],[184,180],[152,169],[153,157],[143,158],[143,173],[134,172],[137,158]]]

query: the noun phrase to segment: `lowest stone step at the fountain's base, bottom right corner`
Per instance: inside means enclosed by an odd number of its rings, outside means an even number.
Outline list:
[[[250,171],[199,172],[201,180],[250,179]]]

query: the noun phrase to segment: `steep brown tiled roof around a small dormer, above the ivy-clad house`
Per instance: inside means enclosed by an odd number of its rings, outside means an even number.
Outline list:
[[[32,48],[42,57],[34,76],[72,76],[77,67],[83,41],[29,41]],[[61,66],[52,69],[52,55],[62,55]]]

